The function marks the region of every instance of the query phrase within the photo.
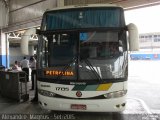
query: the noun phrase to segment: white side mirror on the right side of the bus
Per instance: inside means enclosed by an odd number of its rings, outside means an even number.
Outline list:
[[[139,50],[139,37],[138,37],[138,29],[137,26],[133,23],[127,25],[128,33],[129,33],[129,50],[130,51],[138,51]]]

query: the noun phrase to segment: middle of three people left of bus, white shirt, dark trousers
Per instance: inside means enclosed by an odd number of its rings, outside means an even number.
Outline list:
[[[27,60],[26,57],[23,58],[23,60],[20,62],[22,71],[26,73],[26,80],[29,81],[29,60]]]

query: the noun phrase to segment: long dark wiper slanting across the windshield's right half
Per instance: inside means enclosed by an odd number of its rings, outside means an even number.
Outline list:
[[[82,61],[84,61],[90,68],[91,72],[98,78],[98,80],[102,81],[101,76],[97,73],[97,71],[94,69],[93,65],[90,63],[90,61],[86,58],[86,59],[82,59]]]

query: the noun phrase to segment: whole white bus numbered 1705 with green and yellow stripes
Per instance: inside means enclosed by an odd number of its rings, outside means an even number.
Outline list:
[[[128,49],[138,49],[138,34],[134,24],[125,24],[122,7],[91,4],[47,10],[37,34],[38,101],[42,108],[125,109]]]

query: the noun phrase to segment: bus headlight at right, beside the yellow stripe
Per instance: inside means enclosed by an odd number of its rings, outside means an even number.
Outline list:
[[[107,99],[118,98],[118,97],[122,97],[122,96],[126,95],[126,93],[127,93],[127,90],[121,90],[121,91],[116,91],[116,92],[104,94],[104,97]]]

